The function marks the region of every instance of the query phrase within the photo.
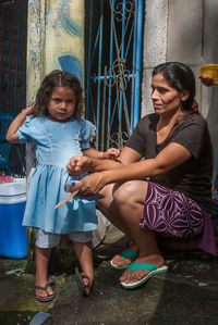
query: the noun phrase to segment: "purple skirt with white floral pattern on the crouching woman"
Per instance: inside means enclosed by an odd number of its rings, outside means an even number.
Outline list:
[[[216,254],[210,214],[185,195],[156,183],[148,182],[140,226],[174,238],[203,234],[199,248]]]

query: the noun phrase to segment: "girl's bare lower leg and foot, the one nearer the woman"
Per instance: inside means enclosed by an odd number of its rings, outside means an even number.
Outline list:
[[[74,241],[73,248],[83,272],[88,277],[88,279],[84,278],[84,284],[86,286],[86,295],[88,296],[90,292],[90,288],[94,284],[92,241],[87,241],[87,242]]]

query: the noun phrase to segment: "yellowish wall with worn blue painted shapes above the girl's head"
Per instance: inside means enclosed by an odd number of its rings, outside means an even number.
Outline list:
[[[84,0],[29,0],[27,29],[27,101],[56,68],[83,84]]]

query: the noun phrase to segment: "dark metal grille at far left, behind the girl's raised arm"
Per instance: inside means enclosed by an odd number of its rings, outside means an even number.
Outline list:
[[[0,1],[0,112],[17,114],[26,102],[27,0]],[[25,147],[12,146],[12,174],[25,174]]]

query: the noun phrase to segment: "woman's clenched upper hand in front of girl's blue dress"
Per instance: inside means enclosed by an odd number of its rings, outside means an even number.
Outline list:
[[[92,158],[85,155],[72,157],[66,168],[71,176],[77,176],[89,172],[92,168]]]

